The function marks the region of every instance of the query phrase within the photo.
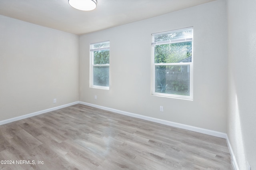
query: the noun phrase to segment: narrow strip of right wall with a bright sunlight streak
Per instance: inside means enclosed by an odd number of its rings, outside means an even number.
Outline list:
[[[240,170],[256,169],[256,1],[228,0],[228,137]]]

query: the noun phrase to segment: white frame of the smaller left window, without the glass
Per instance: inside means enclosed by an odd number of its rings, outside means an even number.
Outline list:
[[[102,48],[97,48],[94,49],[94,45],[96,44],[102,44],[102,43],[109,43],[109,47],[102,47]],[[90,80],[89,80],[89,87],[91,88],[96,88],[96,89],[106,89],[109,90],[109,84],[108,86],[100,86],[100,85],[94,85],[94,66],[108,66],[109,71],[110,71],[110,61],[108,64],[94,64],[94,51],[102,51],[102,50],[109,50],[110,53],[110,41],[104,41],[104,42],[97,42],[97,43],[90,43]],[[110,59],[110,54],[109,54],[109,59]],[[110,76],[110,73],[109,73]],[[109,78],[110,80],[110,78]]]

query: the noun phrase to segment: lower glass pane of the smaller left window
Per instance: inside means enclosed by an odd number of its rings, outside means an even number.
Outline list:
[[[109,86],[109,66],[93,66],[93,85]]]

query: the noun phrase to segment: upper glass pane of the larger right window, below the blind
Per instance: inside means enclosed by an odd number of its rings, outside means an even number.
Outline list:
[[[192,42],[155,45],[155,63],[186,63],[192,61]]]

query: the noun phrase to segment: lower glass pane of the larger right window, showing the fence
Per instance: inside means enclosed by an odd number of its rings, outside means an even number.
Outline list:
[[[190,65],[155,66],[155,92],[190,95]]]

